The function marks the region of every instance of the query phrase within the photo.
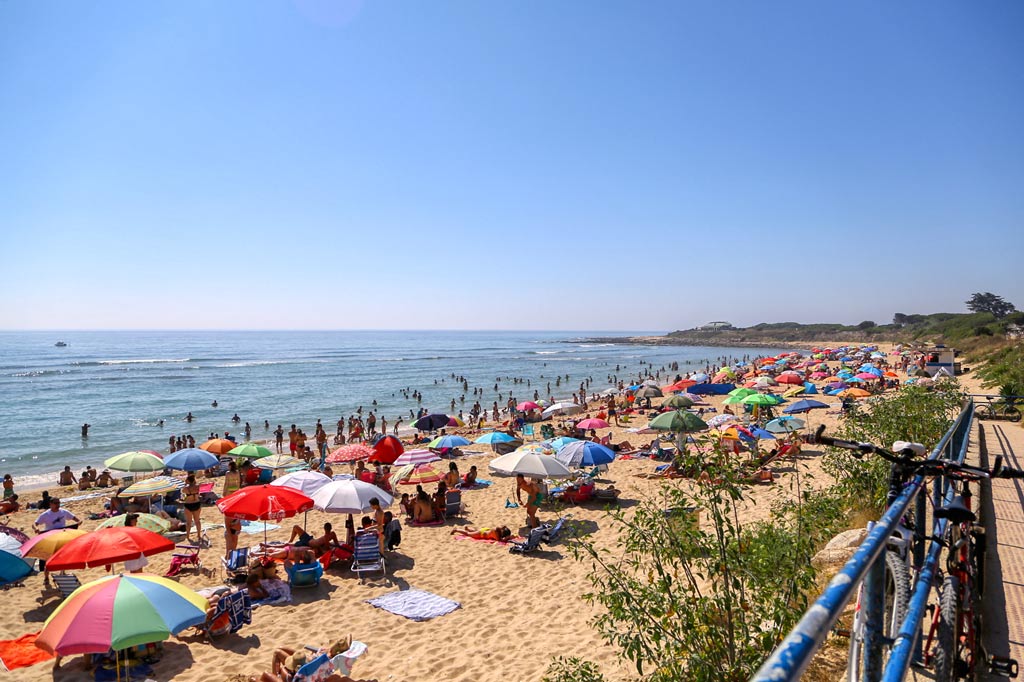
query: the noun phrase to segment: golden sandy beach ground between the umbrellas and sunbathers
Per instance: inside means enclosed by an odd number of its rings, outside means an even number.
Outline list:
[[[968,379],[971,386],[972,380]],[[708,396],[710,406],[721,410],[724,396]],[[837,398],[815,396],[838,408]],[[655,404],[658,399],[654,400]],[[596,413],[594,410],[592,413]],[[816,411],[809,417],[810,425],[838,421],[836,409]],[[646,423],[645,419],[639,424]],[[634,422],[634,426],[637,422]],[[459,429],[472,437],[468,429]],[[629,440],[635,445],[649,442],[650,435],[629,433],[626,427],[610,429],[613,441]],[[473,450],[478,449],[478,450]],[[529,556],[510,554],[504,546],[457,539],[450,535],[453,527],[508,525],[513,531],[526,532],[523,509],[506,507],[506,500],[515,499],[515,479],[487,473],[487,462],[494,454],[484,445],[472,445],[467,456],[457,460],[462,472],[476,465],[480,476],[494,484],[463,494],[466,513],[436,527],[411,527],[403,523],[402,543],[386,555],[387,576],[370,577],[360,581],[351,571],[335,564],[319,587],[296,590],[293,603],[261,606],[254,611],[252,625],[237,635],[213,643],[197,638],[170,639],[165,643],[165,655],[156,666],[158,679],[229,680],[248,679],[269,668],[274,647],[324,645],[339,636],[351,635],[366,642],[369,652],[359,659],[354,674],[357,678],[378,680],[540,680],[552,658],[557,655],[582,656],[597,662],[607,679],[625,680],[636,677],[628,662],[617,658],[589,627],[596,611],[580,595],[588,591],[590,566],[571,557],[565,542],[545,546],[544,551]],[[613,483],[621,494],[621,504],[629,510],[637,501],[657,494],[663,485],[683,485],[688,480],[648,479],[638,476],[652,472],[655,462],[649,459],[616,460],[599,479],[599,486]],[[749,501],[742,505],[740,518],[753,521],[764,518],[770,502],[792,496],[798,471],[813,474],[824,482],[827,477],[820,467],[820,452],[805,446],[796,461],[785,460],[773,467],[775,481],[749,487]],[[336,473],[345,472],[347,465],[335,465]],[[801,476],[806,484],[808,480]],[[220,481],[217,482],[219,489]],[[413,492],[414,486],[399,486],[399,493]],[[50,488],[51,495],[57,491]],[[69,496],[78,492],[67,492]],[[63,491],[60,492],[65,494]],[[37,496],[26,495],[23,501]],[[80,518],[101,510],[102,498],[71,502],[67,507]],[[8,523],[31,528],[35,510],[11,515]],[[591,532],[594,541],[606,548],[614,545],[616,532],[606,512],[597,503],[569,507],[542,507],[542,521],[554,521],[567,516],[575,527]],[[214,507],[204,508],[204,521],[219,523],[223,517]],[[313,511],[306,526],[316,529],[331,520],[341,527],[343,517]],[[295,522],[302,523],[302,517]],[[90,529],[99,521],[85,521]],[[287,540],[291,519],[269,534],[271,540]],[[31,532],[30,532],[31,535]],[[221,585],[223,573],[220,557],[224,551],[222,529],[210,531],[212,547],[203,550],[207,570],[196,574],[185,570],[179,580],[183,585],[200,589]],[[240,546],[256,545],[262,534],[242,535]],[[163,574],[170,561],[169,554],[151,558],[146,572]],[[104,574],[101,568],[78,571],[83,583]],[[54,598],[40,604],[41,576],[25,581],[24,587],[4,592],[12,614],[0,623],[0,637],[14,638],[37,631],[56,606]],[[394,590],[415,588],[435,593],[460,602],[461,608],[437,619],[416,623],[366,603],[366,600]],[[11,680],[78,680],[85,672],[80,657],[67,659],[63,667],[51,672],[44,663],[16,670]]]

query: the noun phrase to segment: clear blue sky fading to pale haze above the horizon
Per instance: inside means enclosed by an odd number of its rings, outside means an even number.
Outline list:
[[[1024,3],[0,3],[0,328],[1024,307]]]

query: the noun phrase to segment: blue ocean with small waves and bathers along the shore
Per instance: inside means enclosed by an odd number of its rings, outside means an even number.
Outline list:
[[[77,475],[130,450],[166,453],[171,435],[193,434],[199,443],[211,432],[230,431],[241,441],[247,421],[254,440],[271,437],[278,424],[311,434],[317,419],[333,432],[359,406],[364,416],[373,409],[378,419],[394,424],[402,416],[409,425],[410,411],[421,406],[451,414],[453,398],[454,413],[468,414],[474,387],[483,388],[479,399],[489,408],[499,393],[508,399],[510,388],[517,400],[531,399],[535,389],[546,397],[549,381],[556,397],[569,396],[587,378],[590,391],[600,391],[615,378],[638,376],[641,361],[654,369],[676,361],[685,373],[721,356],[773,352],[585,342],[649,334],[2,332],[0,474],[11,473],[22,487],[48,484],[65,465]],[[55,347],[57,341],[67,347]],[[470,384],[465,402],[453,374]],[[530,383],[513,385],[511,377]],[[420,391],[422,403],[407,399],[399,390],[407,388]],[[230,421],[236,414],[238,425]],[[83,423],[91,424],[88,438],[81,437]]]

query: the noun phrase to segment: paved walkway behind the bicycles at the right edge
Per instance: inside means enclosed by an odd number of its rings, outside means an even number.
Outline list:
[[[972,456],[991,466],[1001,455],[1006,466],[1024,469],[1024,428],[1020,424],[976,421]],[[983,623],[989,653],[1016,658],[1024,667],[1024,480],[991,481],[980,496],[988,551]],[[983,680],[1002,680],[984,675]]]

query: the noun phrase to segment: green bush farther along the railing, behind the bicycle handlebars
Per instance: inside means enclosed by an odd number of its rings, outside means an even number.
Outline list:
[[[854,403],[838,436],[890,446],[910,440],[934,447],[963,408],[966,394],[954,379],[935,386],[904,386],[893,396]],[[857,459],[830,450],[822,468],[836,479],[835,492],[853,509],[881,513],[889,492],[889,464],[879,457]]]

